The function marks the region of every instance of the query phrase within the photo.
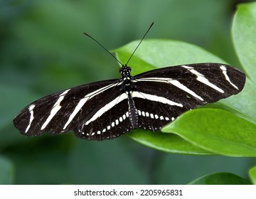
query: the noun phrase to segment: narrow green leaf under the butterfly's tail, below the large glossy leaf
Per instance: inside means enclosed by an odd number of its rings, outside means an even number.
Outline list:
[[[203,150],[175,134],[163,134],[161,131],[132,131],[129,136],[140,144],[149,146],[152,149],[167,153],[189,154],[189,155],[210,155],[209,151]]]

